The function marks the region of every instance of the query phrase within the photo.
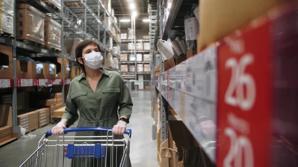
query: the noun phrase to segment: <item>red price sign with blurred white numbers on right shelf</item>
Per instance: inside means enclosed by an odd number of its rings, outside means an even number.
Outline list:
[[[269,27],[245,29],[218,47],[218,166],[269,166]]]

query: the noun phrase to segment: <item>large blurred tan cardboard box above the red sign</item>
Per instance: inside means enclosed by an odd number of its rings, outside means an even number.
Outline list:
[[[206,46],[218,41],[237,28],[248,24],[251,20],[265,14],[270,8],[283,2],[269,0],[228,0],[200,1],[200,35],[198,36],[198,52]],[[214,10],[214,9],[219,10]]]

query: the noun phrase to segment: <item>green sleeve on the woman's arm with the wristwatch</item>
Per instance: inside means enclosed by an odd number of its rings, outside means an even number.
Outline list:
[[[131,116],[132,111],[132,101],[129,93],[129,89],[127,88],[125,82],[121,78],[120,84],[120,97],[119,97],[119,117],[125,116],[128,119]]]

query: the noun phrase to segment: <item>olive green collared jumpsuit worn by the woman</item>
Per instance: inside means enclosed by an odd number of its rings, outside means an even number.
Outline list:
[[[117,124],[120,117],[130,118],[132,111],[132,101],[129,89],[125,85],[121,75],[115,71],[103,70],[103,75],[98,81],[95,92],[91,89],[85,77],[85,73],[77,76],[71,81],[69,92],[66,99],[66,108],[62,119],[67,119],[67,127],[78,119],[78,127],[113,127]],[[119,111],[117,112],[119,106]],[[118,116],[119,115],[119,116]],[[76,132],[76,136],[104,136],[106,132]],[[122,139],[122,136],[115,136],[114,139]],[[88,138],[84,138],[88,139]],[[108,150],[108,152],[110,152]],[[119,165],[122,157],[122,150],[114,151],[114,165]],[[110,155],[108,155],[108,158]],[[110,159],[110,158],[109,158]],[[110,160],[108,165],[110,166]],[[81,161],[82,159],[80,159]],[[87,162],[93,166],[93,161]],[[83,163],[84,164],[84,163]],[[96,164],[96,162],[95,162]],[[128,166],[131,166],[128,160]],[[73,165],[72,165],[73,166]],[[80,166],[75,164],[74,166]],[[89,165],[88,165],[89,166]],[[94,165],[96,166],[96,165]],[[98,165],[101,166],[101,165]]]

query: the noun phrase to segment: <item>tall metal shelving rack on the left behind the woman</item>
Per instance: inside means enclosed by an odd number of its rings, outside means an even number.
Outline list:
[[[16,40],[16,7],[18,3],[27,3],[37,10],[45,13],[46,16],[52,18],[53,20],[59,22],[62,25],[61,28],[61,52],[54,51],[52,49],[46,49],[43,47],[35,46],[33,44],[17,41]],[[67,7],[67,3],[72,3],[74,7]],[[78,5],[77,3],[80,3]],[[102,1],[61,1],[61,9],[54,9],[51,5],[42,2],[41,0],[14,0],[12,2],[14,6],[14,35],[11,36],[0,36],[0,43],[5,45],[13,46],[13,78],[0,79],[1,88],[8,89],[12,88],[13,100],[12,100],[12,117],[13,117],[13,133],[14,139],[20,137],[20,128],[17,124],[17,89],[21,87],[52,87],[52,86],[62,86],[62,96],[65,97],[64,87],[69,85],[71,79],[65,79],[64,68],[61,69],[62,78],[61,79],[24,79],[17,78],[16,74],[16,58],[18,57],[18,52],[26,53],[29,57],[38,58],[55,58],[62,57],[69,60],[70,64],[75,65],[74,55],[63,54],[64,53],[64,38],[80,38],[96,41],[102,52],[104,52],[104,57],[106,58],[107,53],[111,53],[113,57],[120,59],[120,55],[110,51],[107,47],[107,40],[109,37],[113,39],[113,45],[119,45],[120,40],[117,39],[116,34],[120,34],[120,24],[117,24],[112,18],[112,15],[106,9]],[[108,29],[108,25],[105,24],[105,20],[109,19],[112,23],[115,33]],[[62,66],[64,66],[64,59],[62,59]],[[108,70],[118,70],[115,68],[107,68]],[[63,102],[64,103],[64,102]],[[18,135],[19,134],[19,135]],[[13,140],[14,140],[13,139]],[[12,140],[10,140],[12,141]],[[9,142],[9,141],[8,141]]]

